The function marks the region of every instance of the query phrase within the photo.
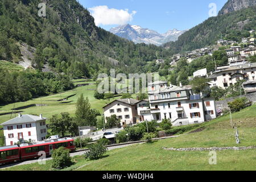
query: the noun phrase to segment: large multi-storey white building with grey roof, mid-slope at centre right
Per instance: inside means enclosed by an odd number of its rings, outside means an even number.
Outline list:
[[[151,120],[171,119],[173,126],[202,123],[216,118],[213,98],[201,99],[192,89],[171,85],[148,92]]]

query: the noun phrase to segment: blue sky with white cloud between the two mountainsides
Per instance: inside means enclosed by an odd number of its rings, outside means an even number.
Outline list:
[[[187,30],[209,18],[210,3],[217,12],[228,0],[79,0],[96,19],[97,26],[109,30],[129,23],[159,33],[177,28]],[[213,12],[213,11],[211,11]]]

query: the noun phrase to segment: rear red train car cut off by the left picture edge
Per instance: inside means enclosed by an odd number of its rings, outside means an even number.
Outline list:
[[[20,160],[19,146],[0,147],[0,164],[15,162]]]

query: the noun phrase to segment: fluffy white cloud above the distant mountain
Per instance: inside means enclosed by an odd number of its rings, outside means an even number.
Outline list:
[[[122,25],[133,20],[133,16],[137,13],[136,11],[132,11],[131,13],[129,13],[128,9],[125,9],[125,10],[109,9],[108,6],[96,6],[96,7],[90,8],[89,10],[92,12],[92,16],[94,17],[95,24],[97,26],[99,26],[100,24]]]

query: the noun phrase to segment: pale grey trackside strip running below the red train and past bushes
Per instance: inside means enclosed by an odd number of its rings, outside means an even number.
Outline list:
[[[131,146],[133,144],[137,144],[137,143],[132,143],[132,144],[125,144],[125,145],[122,145],[122,146],[113,146],[113,147],[108,147],[108,150],[113,150],[113,149],[116,149],[116,148],[123,148],[123,147],[127,147],[127,146]],[[86,151],[81,151],[81,152],[74,152],[74,153],[71,153],[70,156],[76,156],[76,155],[84,155]],[[51,160],[52,158],[47,158],[45,160]],[[24,164],[32,164],[32,163],[36,163],[38,162],[38,159],[35,159],[35,160],[27,160],[27,161],[24,161],[24,162],[17,162],[17,163],[13,163],[13,164],[7,164],[5,166],[0,166],[0,169],[3,169],[3,168],[9,168],[9,167],[14,167],[14,166],[20,166],[20,165],[24,165]]]

